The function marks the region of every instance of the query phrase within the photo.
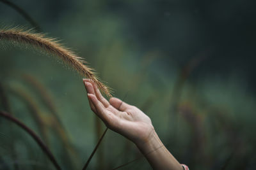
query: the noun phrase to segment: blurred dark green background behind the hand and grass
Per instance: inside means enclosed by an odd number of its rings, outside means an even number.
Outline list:
[[[190,169],[255,169],[255,1],[15,1],[102,80],[151,119]],[[33,27],[0,1],[0,25]],[[82,169],[105,125],[82,77],[30,46],[0,47],[1,110],[49,146],[63,169]],[[150,169],[108,131],[88,169]],[[0,118],[0,169],[54,169],[35,141]]]

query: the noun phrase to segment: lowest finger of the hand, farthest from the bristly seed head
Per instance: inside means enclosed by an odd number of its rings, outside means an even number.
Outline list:
[[[88,98],[92,101],[93,106],[95,106],[96,114],[104,121],[108,122],[108,115],[106,113],[106,108],[104,108],[103,104],[97,99],[97,97],[93,94],[88,94]]]

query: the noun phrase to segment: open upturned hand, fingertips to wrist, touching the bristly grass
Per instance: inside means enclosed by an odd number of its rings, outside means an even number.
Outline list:
[[[130,139],[136,145],[147,143],[155,133],[150,118],[135,106],[111,97],[105,99],[93,81],[83,79],[92,111],[109,129]]]

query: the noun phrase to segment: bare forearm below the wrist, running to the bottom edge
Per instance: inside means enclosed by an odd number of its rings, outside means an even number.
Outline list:
[[[153,169],[183,170],[183,167],[163,145],[156,132],[148,141],[136,144]]]

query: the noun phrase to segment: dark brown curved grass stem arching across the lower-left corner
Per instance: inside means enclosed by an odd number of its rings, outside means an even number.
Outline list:
[[[58,162],[56,161],[56,159],[54,158],[54,156],[52,155],[51,151],[49,150],[49,148],[47,148],[47,146],[42,142],[42,140],[35,134],[35,132],[33,132],[31,129],[29,129],[29,127],[27,127],[26,125],[24,125],[22,122],[20,122],[19,120],[17,120],[17,118],[14,118],[10,115],[10,113],[6,113],[4,111],[0,111],[0,116],[3,118],[6,118],[7,120],[10,120],[11,122],[13,122],[14,124],[18,125],[19,127],[21,127],[24,131],[28,132],[28,134],[35,139],[36,143],[40,146],[40,148],[42,148],[42,150],[44,151],[44,153],[47,155],[47,157],[49,157],[49,159],[51,160],[52,164],[54,164],[54,166],[56,167],[56,169],[61,169],[60,165],[58,164]]]

